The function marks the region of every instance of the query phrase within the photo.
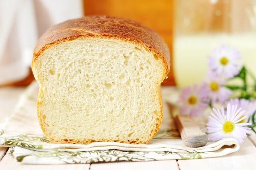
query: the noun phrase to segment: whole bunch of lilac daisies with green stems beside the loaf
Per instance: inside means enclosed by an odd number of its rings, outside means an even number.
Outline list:
[[[205,79],[180,93],[182,114],[201,116],[212,108],[207,123],[211,141],[232,137],[241,143],[251,131],[256,133],[256,78],[240,59],[235,48],[216,48],[209,57]],[[253,85],[248,83],[249,77]]]

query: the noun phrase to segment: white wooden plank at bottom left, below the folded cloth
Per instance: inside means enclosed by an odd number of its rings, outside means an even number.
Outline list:
[[[90,164],[22,164],[6,154],[0,161],[1,170],[89,170]]]

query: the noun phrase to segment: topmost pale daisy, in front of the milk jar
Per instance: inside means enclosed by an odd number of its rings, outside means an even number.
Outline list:
[[[228,48],[222,45],[215,49],[212,56],[209,57],[209,68],[218,76],[231,78],[239,73],[240,54],[235,48]]]

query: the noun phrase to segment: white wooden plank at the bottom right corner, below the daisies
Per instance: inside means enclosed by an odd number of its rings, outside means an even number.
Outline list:
[[[253,170],[256,147],[246,138],[240,150],[227,156],[209,159],[178,160],[181,170]]]

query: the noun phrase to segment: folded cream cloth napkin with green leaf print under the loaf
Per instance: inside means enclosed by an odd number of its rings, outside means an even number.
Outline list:
[[[148,144],[94,142],[91,144],[53,144],[43,135],[36,114],[38,84],[33,82],[20,96],[15,112],[0,126],[0,146],[11,147],[17,161],[28,164],[73,164],[109,161],[153,161],[201,159],[224,156],[239,150],[235,139],[208,142],[204,147],[183,144],[166,102],[177,101],[174,88],[164,89],[163,123]],[[205,120],[198,120],[205,130]]]

